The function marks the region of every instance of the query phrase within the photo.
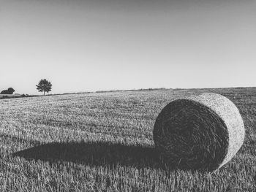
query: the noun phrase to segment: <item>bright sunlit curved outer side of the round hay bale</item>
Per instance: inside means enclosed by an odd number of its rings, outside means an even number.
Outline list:
[[[186,99],[197,101],[214,110],[224,120],[228,131],[228,149],[219,168],[230,161],[244,143],[244,122],[238,108],[230,99],[217,93],[201,93],[197,96],[188,96]],[[219,169],[218,168],[218,169]]]

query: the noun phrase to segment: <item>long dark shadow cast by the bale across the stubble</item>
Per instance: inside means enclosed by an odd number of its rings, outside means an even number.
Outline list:
[[[12,153],[27,160],[41,160],[50,163],[69,161],[94,166],[134,166],[173,170],[159,160],[159,152],[153,147],[127,146],[110,142],[51,142]]]

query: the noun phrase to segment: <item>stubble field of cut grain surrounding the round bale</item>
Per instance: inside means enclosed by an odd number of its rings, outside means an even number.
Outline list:
[[[221,93],[246,139],[217,172],[172,169],[154,121],[174,97]],[[256,88],[118,91],[0,100],[0,191],[255,191]]]

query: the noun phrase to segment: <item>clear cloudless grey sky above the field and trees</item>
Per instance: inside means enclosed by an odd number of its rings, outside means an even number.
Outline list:
[[[256,86],[256,1],[0,0],[0,89]]]

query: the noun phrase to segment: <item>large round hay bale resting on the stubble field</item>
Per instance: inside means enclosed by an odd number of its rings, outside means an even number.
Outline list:
[[[171,101],[154,124],[154,143],[165,163],[179,169],[214,171],[244,142],[244,123],[225,96],[202,93]]]

